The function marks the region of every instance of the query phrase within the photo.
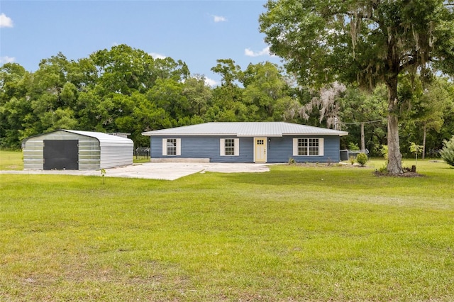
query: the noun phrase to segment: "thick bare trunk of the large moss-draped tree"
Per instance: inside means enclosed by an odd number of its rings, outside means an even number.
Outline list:
[[[386,81],[388,89],[388,165],[391,174],[402,174],[402,154],[399,145],[399,106],[397,99],[397,74]]]

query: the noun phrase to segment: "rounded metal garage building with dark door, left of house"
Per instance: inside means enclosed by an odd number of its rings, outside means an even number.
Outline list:
[[[116,135],[55,130],[22,142],[24,169],[93,170],[133,164],[133,141]]]

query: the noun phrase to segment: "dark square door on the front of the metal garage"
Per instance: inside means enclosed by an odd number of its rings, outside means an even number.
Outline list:
[[[79,169],[79,140],[44,140],[43,142],[43,169]]]

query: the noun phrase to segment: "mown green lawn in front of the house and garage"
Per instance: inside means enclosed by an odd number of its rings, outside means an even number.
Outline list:
[[[368,164],[0,174],[0,301],[453,301],[454,169]]]

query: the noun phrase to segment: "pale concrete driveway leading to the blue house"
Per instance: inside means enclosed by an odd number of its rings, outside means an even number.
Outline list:
[[[143,179],[175,180],[194,173],[220,172],[220,173],[257,173],[268,172],[269,164],[223,164],[199,162],[148,162],[133,164],[126,167],[106,169],[106,177],[132,177]],[[53,175],[84,175],[101,176],[99,170],[23,170],[0,171],[0,174],[53,174]]]

